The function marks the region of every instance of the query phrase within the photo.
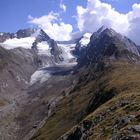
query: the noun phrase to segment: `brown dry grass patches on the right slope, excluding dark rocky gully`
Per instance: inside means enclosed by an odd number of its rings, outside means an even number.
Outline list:
[[[125,114],[135,114],[138,112],[137,110],[140,109],[140,66],[127,62],[115,62],[112,64],[111,70],[105,72],[105,75],[100,77],[96,82],[98,84],[105,82],[103,84],[105,87],[104,90],[109,91],[115,88],[119,94],[101,105],[97,110],[86,117],[86,119],[93,119],[98,114],[106,112],[106,110],[117,101],[131,101],[129,109],[125,109],[126,106],[117,109],[105,118],[104,121],[101,121],[94,127],[94,133],[90,136],[91,140],[98,140],[101,138],[108,140],[111,138],[112,127],[118,117],[124,116]],[[97,83],[92,81],[83,88],[72,93],[71,96],[64,98],[59,103],[56,113],[50,117],[44,127],[38,131],[32,140],[56,140],[70,130],[77,123],[75,118],[78,118],[78,114],[87,107],[88,102],[93,96],[93,94],[89,94],[89,92],[92,91],[94,93]],[[132,108],[132,106],[134,108]],[[103,133],[102,128],[104,127],[105,131]],[[69,133],[71,131],[69,131]]]

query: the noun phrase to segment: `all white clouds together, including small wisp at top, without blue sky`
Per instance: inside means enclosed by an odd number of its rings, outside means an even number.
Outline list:
[[[66,11],[63,0],[60,1],[59,6],[63,12]],[[86,8],[77,6],[76,20],[79,33],[72,33],[72,25],[63,22],[60,18],[61,13],[50,12],[38,18],[29,16],[29,23],[44,29],[55,40],[69,40],[84,32],[95,32],[102,25],[106,25],[140,44],[140,4],[132,5],[132,10],[123,14],[100,0],[87,0]]]

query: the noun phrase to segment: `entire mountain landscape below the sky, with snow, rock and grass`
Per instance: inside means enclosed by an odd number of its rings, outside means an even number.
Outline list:
[[[1,140],[139,140],[139,47],[113,29],[61,42],[0,36]]]

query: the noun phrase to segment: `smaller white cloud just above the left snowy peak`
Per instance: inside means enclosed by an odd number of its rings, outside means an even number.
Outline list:
[[[39,26],[55,40],[69,40],[71,38],[72,25],[62,22],[58,13],[50,12],[39,18],[29,16],[29,23]]]

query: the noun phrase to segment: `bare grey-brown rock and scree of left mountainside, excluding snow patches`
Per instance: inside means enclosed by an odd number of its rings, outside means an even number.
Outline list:
[[[0,42],[7,38],[12,36],[6,34]],[[42,32],[36,43],[42,39],[51,40]],[[34,49],[5,50],[0,46],[0,140],[31,138],[75,85],[72,65],[53,65],[60,61],[60,50],[51,42],[51,58],[39,56]],[[44,68],[48,63],[53,67]],[[49,77],[44,75],[47,81],[31,83],[31,76],[40,70],[49,73]]]

